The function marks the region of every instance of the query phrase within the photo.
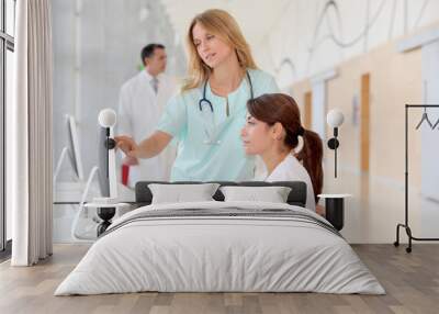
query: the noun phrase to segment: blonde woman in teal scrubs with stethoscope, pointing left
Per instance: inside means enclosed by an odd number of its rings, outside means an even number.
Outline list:
[[[116,136],[127,155],[151,158],[175,138],[179,143],[171,180],[248,180],[255,159],[246,156],[239,132],[251,97],[277,92],[259,70],[234,18],[223,10],[196,15],[188,32],[189,77],[165,109],[157,131],[136,144]]]

